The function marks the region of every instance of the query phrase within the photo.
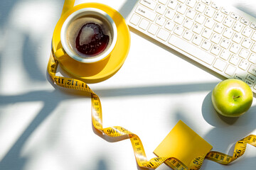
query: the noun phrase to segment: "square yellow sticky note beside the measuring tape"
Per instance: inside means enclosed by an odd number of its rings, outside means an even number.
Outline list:
[[[206,140],[203,140],[179,120],[160,145],[156,147],[154,154],[157,157],[175,157],[189,166],[193,159],[207,154],[212,148]],[[167,161],[166,164],[170,163]]]

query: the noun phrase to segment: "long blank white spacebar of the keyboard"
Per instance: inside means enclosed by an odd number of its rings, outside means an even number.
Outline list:
[[[178,47],[178,49],[182,50],[183,52],[186,52],[189,55],[192,55],[193,57],[206,62],[207,64],[213,64],[213,60],[215,59],[213,55],[210,55],[208,52],[205,52],[195,45],[186,42],[186,40],[178,38],[176,35],[171,35],[169,43],[175,47]]]

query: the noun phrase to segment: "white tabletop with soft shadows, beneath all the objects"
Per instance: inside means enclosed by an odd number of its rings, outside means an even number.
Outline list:
[[[136,1],[97,2],[127,18]],[[46,67],[63,2],[1,1],[0,169],[137,169],[129,140],[107,142],[92,131],[90,96],[68,94],[50,84]],[[83,2],[89,1],[75,4]],[[225,2],[256,17],[254,0]],[[119,125],[134,132],[151,159],[178,120],[225,154],[233,153],[236,141],[256,134],[256,100],[238,119],[215,113],[210,94],[220,81],[177,52],[131,32],[122,68],[90,88],[101,98],[103,127]],[[255,158],[256,148],[248,145],[234,164],[206,160],[201,169],[255,169]],[[169,167],[162,164],[158,169]]]

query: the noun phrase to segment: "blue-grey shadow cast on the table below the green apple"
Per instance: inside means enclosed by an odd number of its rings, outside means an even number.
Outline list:
[[[246,137],[245,134],[250,134],[255,130],[255,113],[256,106],[252,106],[247,113],[239,118],[227,118],[220,115],[213,108],[210,92],[203,101],[202,115],[213,128],[203,138],[212,141],[213,150],[233,155],[235,143]]]

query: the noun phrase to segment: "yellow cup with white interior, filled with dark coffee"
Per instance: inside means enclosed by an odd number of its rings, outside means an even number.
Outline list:
[[[105,11],[81,8],[66,18],[60,31],[60,42],[62,47],[54,53],[57,60],[68,54],[78,62],[99,62],[109,57],[114,49],[117,26]]]

